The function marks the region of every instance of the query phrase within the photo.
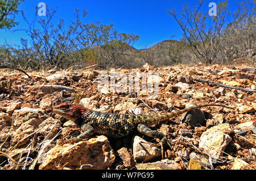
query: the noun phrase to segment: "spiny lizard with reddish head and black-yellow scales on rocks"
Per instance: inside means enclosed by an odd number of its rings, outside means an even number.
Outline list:
[[[79,136],[72,138],[71,140],[73,141],[81,141],[84,138],[89,138],[93,133],[120,138],[138,131],[146,136],[159,138],[159,143],[152,144],[151,146],[161,146],[163,158],[163,145],[168,144],[171,148],[171,144],[167,141],[165,134],[152,130],[149,126],[169,120],[182,113],[207,106],[230,108],[220,104],[200,104],[198,106],[192,106],[174,112],[160,111],[156,113],[140,113],[133,115],[98,112],[76,104],[60,104],[59,106],[53,107],[53,112],[65,119],[73,121],[81,128],[82,133]]]

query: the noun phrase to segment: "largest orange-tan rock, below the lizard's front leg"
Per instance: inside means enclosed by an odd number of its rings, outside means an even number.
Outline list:
[[[68,169],[107,169],[114,160],[114,151],[108,138],[97,136],[88,141],[54,146],[46,153],[46,160],[39,169],[58,169],[63,166]]]

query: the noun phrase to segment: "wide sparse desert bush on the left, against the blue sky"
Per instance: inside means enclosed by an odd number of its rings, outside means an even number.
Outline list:
[[[82,24],[81,18],[87,14],[85,10],[81,15],[80,10],[76,9],[76,19],[68,24],[68,28],[64,26],[64,19],[55,23],[55,13],[56,10],[47,7],[46,17],[40,18],[36,13],[30,23],[22,11],[28,28],[15,31],[25,31],[30,38],[21,39],[20,47],[8,46],[11,51],[9,64],[26,69],[46,69],[51,66],[82,68],[92,64],[101,68],[112,64],[121,66],[122,61],[118,57],[138,40],[138,36],[114,30],[113,24]]]

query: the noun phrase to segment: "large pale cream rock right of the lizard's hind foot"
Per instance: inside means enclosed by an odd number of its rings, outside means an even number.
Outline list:
[[[228,135],[233,132],[228,124],[220,124],[205,131],[200,137],[199,148],[207,151],[212,158],[218,159],[223,155],[226,146],[232,141]]]

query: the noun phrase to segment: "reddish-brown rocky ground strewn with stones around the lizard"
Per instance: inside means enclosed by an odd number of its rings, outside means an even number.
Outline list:
[[[177,65],[115,72],[159,74],[159,95],[98,91],[97,76],[106,70],[0,72],[1,169],[256,169],[255,65]],[[195,81],[207,79],[253,91]],[[117,80],[118,81],[118,80]],[[80,128],[52,112],[60,103],[80,103],[92,110],[141,113],[218,103],[152,125],[172,146],[134,133],[125,138],[93,135],[71,143]]]

